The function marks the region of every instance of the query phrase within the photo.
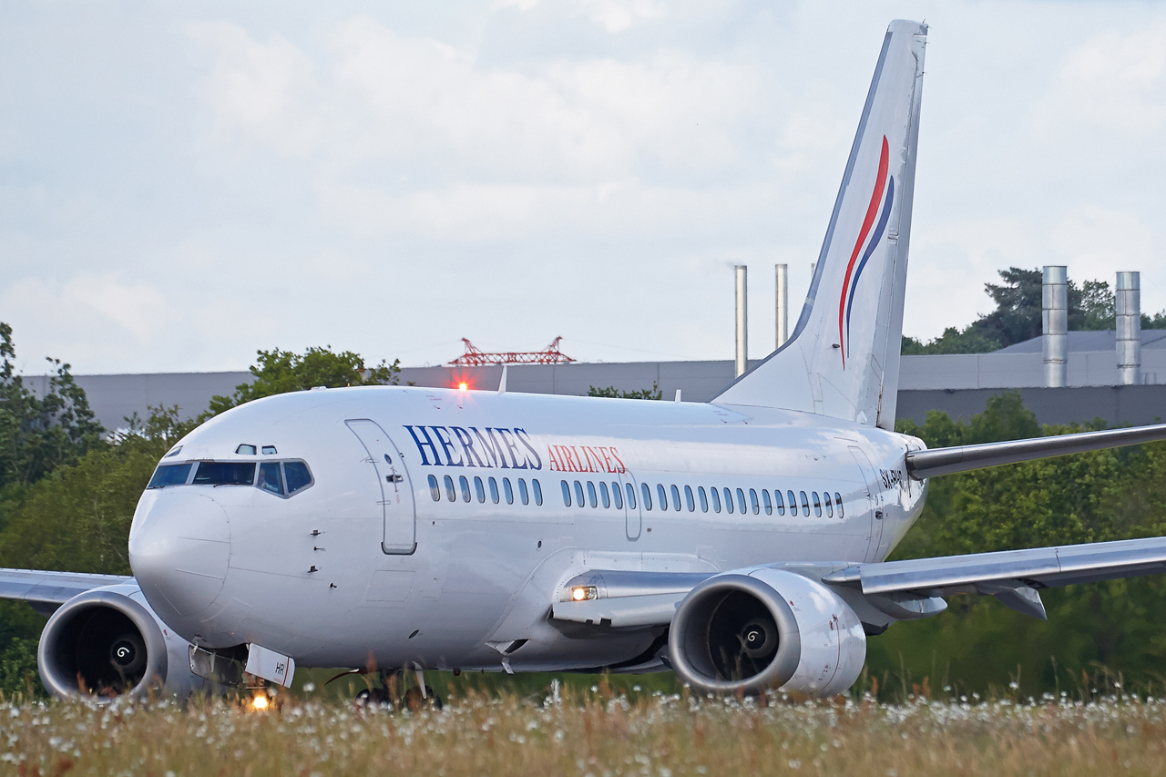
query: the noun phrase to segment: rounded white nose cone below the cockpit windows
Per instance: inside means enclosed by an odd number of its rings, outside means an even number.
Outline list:
[[[231,556],[226,511],[188,489],[154,495],[129,533],[129,566],[163,618],[198,615],[218,596]]]

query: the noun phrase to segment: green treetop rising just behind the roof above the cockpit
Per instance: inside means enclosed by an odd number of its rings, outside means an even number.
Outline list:
[[[255,377],[251,383],[236,386],[230,397],[211,398],[209,418],[236,405],[250,402],[260,397],[271,397],[289,391],[305,391],[316,386],[339,388],[360,384],[396,385],[401,360],[392,364],[381,360],[372,369],[366,369],[364,359],[352,351],[333,354],[329,348],[309,348],[303,355],[273,349],[257,351],[258,360],[251,366]]]

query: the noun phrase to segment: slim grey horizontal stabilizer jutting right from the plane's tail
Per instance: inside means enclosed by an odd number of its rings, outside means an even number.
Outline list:
[[[985,442],[977,446],[956,446],[934,450],[911,450],[907,453],[907,473],[921,481],[935,475],[951,475],[971,469],[1014,464],[1020,461],[1051,459],[1087,450],[1102,450],[1103,448],[1136,446],[1160,440],[1166,440],[1166,424],[1138,426],[1132,429],[1059,434],[1031,440]]]

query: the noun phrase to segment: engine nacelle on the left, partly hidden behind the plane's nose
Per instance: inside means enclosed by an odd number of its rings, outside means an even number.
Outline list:
[[[78,594],[57,608],[41,634],[36,663],[44,688],[58,698],[213,692],[212,682],[191,673],[189,651],[141,589],[125,583]]]

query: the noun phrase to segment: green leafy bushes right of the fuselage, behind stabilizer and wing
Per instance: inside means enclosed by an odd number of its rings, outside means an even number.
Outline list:
[[[929,447],[993,442],[1104,428],[1037,424],[1019,392],[993,397],[970,421],[932,411],[899,430]],[[892,559],[1166,534],[1166,443],[1097,450],[934,477],[918,524]],[[1041,592],[1048,621],[1013,612],[990,596],[953,596],[948,610],[899,623],[869,640],[872,677],[1003,688],[1039,695],[1088,694],[1108,676],[1128,688],[1166,674],[1166,578],[1149,575]],[[1089,678],[1083,677],[1083,672]],[[884,680],[880,679],[880,682]]]

